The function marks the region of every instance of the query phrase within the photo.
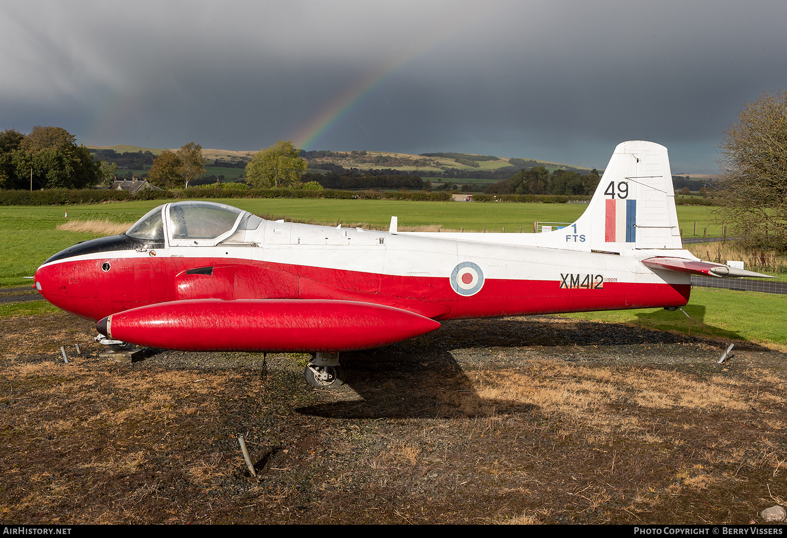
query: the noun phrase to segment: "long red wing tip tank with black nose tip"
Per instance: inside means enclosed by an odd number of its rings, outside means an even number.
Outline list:
[[[440,323],[349,300],[178,300],[109,315],[98,332],[180,351],[342,352],[417,337]]]

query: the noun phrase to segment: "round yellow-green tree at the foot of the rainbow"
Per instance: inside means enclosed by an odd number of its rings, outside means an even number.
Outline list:
[[[268,149],[260,149],[246,164],[246,178],[257,187],[296,186],[306,171],[306,161],[298,157],[292,140],[279,140]]]

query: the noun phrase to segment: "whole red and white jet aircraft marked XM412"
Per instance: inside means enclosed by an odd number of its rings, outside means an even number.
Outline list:
[[[674,310],[690,275],[766,276],[682,249],[667,149],[623,142],[582,216],[541,234],[387,232],[266,221],[229,205],[161,205],[125,234],[58,252],[35,287],[98,322],[105,343],[311,352],[306,379],[342,384],[338,353],[438,320]]]

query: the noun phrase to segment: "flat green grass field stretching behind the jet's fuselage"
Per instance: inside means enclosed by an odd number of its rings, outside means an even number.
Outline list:
[[[288,198],[230,198],[217,199],[246,211],[265,215],[287,216],[316,223],[368,223],[386,227],[390,217],[399,217],[401,227],[438,224],[455,230],[518,232],[519,227],[529,232],[533,221],[568,223],[582,215],[584,204],[480,204],[457,202],[419,202],[389,200],[301,200]],[[55,230],[68,218],[79,220],[109,219],[116,223],[132,223],[161,201],[130,201],[113,204],[75,205],[57,207],[3,206],[0,207],[0,286],[20,286],[6,283],[7,278],[31,276],[43,260],[77,241],[98,237]],[[710,208],[688,206],[678,208],[682,226],[697,219],[703,226],[712,227]],[[699,226],[699,223],[698,223]],[[711,228],[712,229],[712,228]],[[710,235],[710,234],[709,234]],[[686,236],[688,237],[688,236]],[[13,281],[13,282],[18,282]]]

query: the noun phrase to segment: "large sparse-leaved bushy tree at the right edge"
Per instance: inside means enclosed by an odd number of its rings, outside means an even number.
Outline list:
[[[723,132],[722,219],[749,245],[787,250],[787,92],[763,93]]]

